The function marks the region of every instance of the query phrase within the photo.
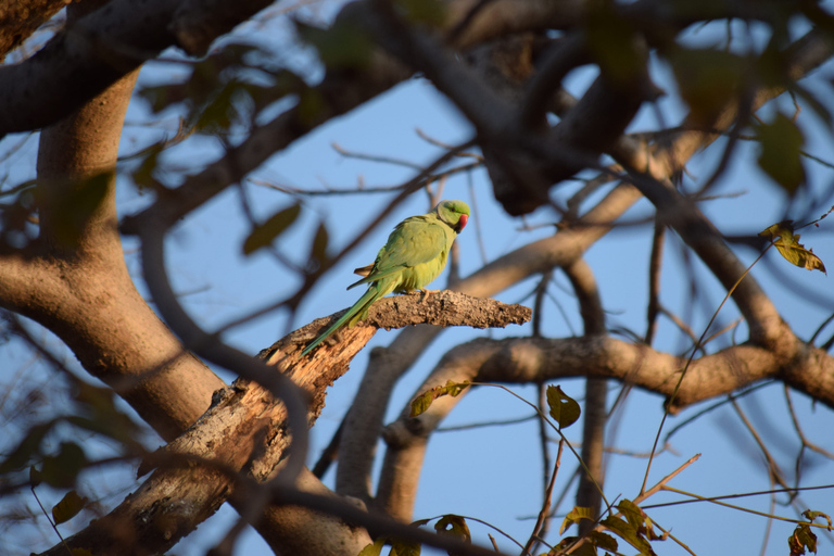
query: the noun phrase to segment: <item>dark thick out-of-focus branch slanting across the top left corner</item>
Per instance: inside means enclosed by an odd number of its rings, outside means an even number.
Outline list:
[[[25,62],[0,68],[0,137],[52,124],[168,47],[202,55],[212,40],[270,3],[112,0]]]

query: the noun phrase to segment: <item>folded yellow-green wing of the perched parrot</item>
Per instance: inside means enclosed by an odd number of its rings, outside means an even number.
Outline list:
[[[424,216],[406,218],[389,236],[388,243],[379,251],[370,273],[348,289],[379,280],[399,273],[404,267],[417,266],[440,257],[443,251],[448,250],[448,239],[443,226],[443,223]]]

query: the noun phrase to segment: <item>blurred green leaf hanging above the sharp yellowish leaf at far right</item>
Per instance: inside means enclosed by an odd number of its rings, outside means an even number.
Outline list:
[[[805,182],[801,159],[805,139],[799,127],[780,112],[770,124],[759,125],[756,136],[761,146],[759,167],[793,195]]]

